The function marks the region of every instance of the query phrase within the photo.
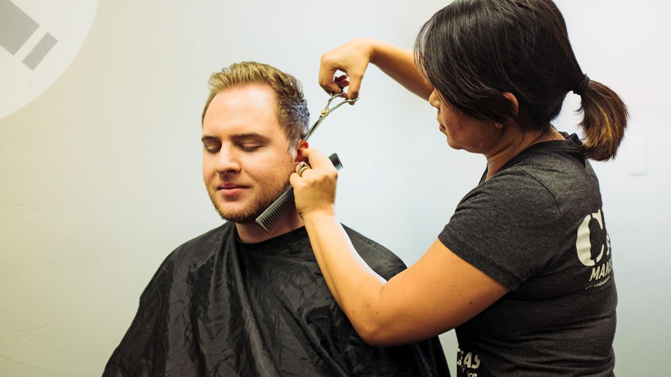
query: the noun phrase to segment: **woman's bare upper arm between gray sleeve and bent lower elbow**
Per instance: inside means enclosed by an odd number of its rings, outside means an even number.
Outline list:
[[[427,339],[468,321],[507,292],[436,239],[417,263],[384,284],[377,325],[364,339],[374,345]]]

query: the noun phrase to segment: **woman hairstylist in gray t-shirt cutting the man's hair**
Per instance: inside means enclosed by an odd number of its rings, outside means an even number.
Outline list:
[[[427,99],[448,145],[484,155],[487,169],[454,214],[444,209],[423,257],[387,282],[335,217],[335,168],[306,151],[311,169],[291,176],[297,208],[356,330],[395,345],[456,329],[459,376],[613,376],[613,251],[588,159],[615,156],[627,110],[582,72],[556,5],[454,1],[423,25],[414,59],[354,40],[323,54],[319,83],[338,91],[342,70],[355,97],[368,63]],[[550,123],[571,91],[582,142]]]

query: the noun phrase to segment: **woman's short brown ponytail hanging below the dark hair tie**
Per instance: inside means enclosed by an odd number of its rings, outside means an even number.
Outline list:
[[[609,87],[586,78],[578,91],[582,98],[582,150],[591,160],[607,161],[615,157],[625,134],[629,113],[627,106]]]

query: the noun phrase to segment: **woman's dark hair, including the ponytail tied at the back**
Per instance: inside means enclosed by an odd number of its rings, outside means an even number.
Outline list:
[[[415,62],[452,109],[475,119],[515,119],[503,95],[512,93],[531,119],[524,131],[549,130],[566,94],[578,91],[592,160],[613,158],[627,127],[615,92],[594,80],[580,87],[584,73],[551,0],[456,0],[421,28]]]

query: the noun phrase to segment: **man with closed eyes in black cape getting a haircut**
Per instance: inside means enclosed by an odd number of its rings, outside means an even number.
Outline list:
[[[335,303],[296,211],[254,220],[287,188],[307,143],[301,84],[272,66],[215,72],[203,110],[203,178],[226,223],[178,247],[142,296],[103,376],[449,376],[437,338],[373,347]],[[345,227],[386,279],[397,256]]]

